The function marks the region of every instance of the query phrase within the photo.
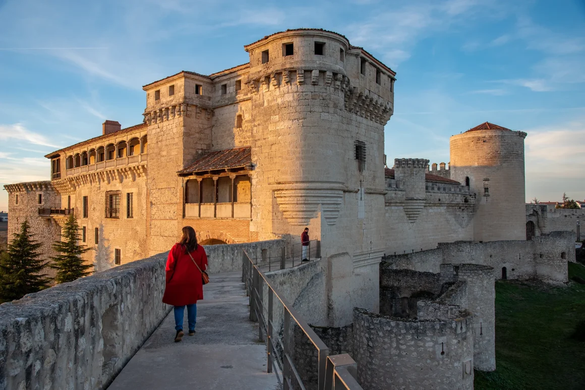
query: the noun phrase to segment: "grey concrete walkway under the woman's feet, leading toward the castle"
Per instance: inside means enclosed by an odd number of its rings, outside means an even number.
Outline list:
[[[205,300],[197,303],[197,333],[174,342],[171,311],[114,379],[109,390],[250,389],[276,390],[266,372],[266,346],[249,320],[242,272],[212,274]],[[185,323],[187,328],[187,310]]]

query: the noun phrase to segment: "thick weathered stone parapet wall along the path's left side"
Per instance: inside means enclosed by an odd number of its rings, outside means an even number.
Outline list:
[[[0,305],[0,388],[106,388],[171,308],[161,302],[166,258]]]

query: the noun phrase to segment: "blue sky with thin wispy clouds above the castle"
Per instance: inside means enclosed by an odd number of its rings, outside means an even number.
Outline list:
[[[528,133],[526,199],[585,199],[583,1],[0,0],[0,186],[49,179],[47,152],[142,122],[142,85],[248,61],[287,28],[347,36],[395,71],[388,161],[449,161],[484,121]],[[0,191],[0,210],[6,209]]]

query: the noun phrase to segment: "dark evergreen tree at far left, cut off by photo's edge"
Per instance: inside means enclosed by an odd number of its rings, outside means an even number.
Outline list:
[[[12,301],[49,286],[42,274],[47,262],[39,259],[40,242],[32,239],[28,221],[22,222],[8,250],[0,256],[0,300]]]

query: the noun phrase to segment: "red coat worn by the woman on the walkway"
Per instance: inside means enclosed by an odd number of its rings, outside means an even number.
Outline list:
[[[207,269],[207,255],[201,245],[191,252],[193,260],[202,271]],[[195,267],[185,247],[176,243],[168,252],[167,283],[164,286],[163,302],[173,306],[196,304],[203,299],[201,272]]]

